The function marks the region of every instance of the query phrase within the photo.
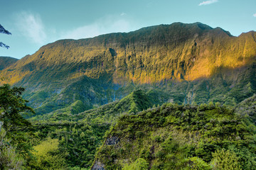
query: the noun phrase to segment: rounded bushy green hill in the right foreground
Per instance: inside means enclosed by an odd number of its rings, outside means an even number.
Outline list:
[[[92,169],[255,169],[255,130],[247,114],[218,103],[164,104],[123,115]]]

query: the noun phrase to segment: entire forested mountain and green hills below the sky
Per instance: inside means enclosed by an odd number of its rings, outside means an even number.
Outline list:
[[[256,169],[255,39],[173,23],[0,57],[0,169]]]

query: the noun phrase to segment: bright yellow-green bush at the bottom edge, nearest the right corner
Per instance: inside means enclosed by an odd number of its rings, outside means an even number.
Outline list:
[[[230,170],[240,170],[240,162],[239,157],[235,154],[235,152],[232,152],[230,150],[216,150],[213,153],[213,159],[210,163],[213,169],[218,170],[224,170],[224,169],[230,169]]]

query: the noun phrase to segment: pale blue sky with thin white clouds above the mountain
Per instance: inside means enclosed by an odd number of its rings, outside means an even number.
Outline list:
[[[21,59],[60,39],[92,38],[174,22],[201,22],[238,36],[256,30],[255,0],[0,0],[0,56]]]

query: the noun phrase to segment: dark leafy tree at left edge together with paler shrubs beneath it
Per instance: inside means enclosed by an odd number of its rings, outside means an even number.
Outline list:
[[[31,123],[21,113],[34,113],[21,97],[24,90],[9,84],[0,86],[0,169],[21,169],[23,158],[32,149],[23,139],[23,130]]]

